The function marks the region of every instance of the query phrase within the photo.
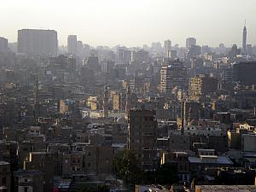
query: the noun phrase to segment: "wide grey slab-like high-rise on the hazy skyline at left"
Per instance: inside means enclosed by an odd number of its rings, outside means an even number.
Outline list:
[[[57,55],[55,30],[21,29],[18,31],[18,53],[26,55]]]

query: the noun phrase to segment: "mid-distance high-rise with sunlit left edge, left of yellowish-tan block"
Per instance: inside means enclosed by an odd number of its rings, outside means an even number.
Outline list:
[[[171,94],[172,88],[184,89],[186,86],[186,67],[182,62],[171,61],[160,70],[160,92]]]

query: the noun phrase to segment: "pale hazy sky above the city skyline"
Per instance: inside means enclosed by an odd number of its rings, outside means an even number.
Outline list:
[[[1,0],[0,37],[22,28],[55,29],[59,44],[77,34],[86,44],[142,46],[167,38],[185,44],[256,44],[256,0]]]

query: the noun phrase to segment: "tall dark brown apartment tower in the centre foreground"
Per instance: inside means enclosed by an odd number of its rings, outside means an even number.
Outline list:
[[[133,110],[128,116],[129,149],[143,170],[154,170],[156,164],[157,120],[153,110]]]

